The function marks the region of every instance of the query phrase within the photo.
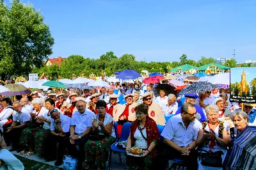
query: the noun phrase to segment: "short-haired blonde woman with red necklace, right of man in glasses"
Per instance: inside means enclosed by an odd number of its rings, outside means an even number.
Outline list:
[[[230,142],[228,137],[229,125],[219,120],[219,107],[217,105],[208,105],[205,107],[207,121],[202,123],[203,130],[198,132],[196,145],[198,149],[206,151],[223,151],[222,161],[227,154],[227,146]],[[204,151],[202,151],[204,152]],[[198,158],[198,169],[211,169],[209,166],[202,166]],[[214,167],[213,169],[222,169]]]

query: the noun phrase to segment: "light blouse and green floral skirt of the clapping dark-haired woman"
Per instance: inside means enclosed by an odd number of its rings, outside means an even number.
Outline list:
[[[97,122],[99,122],[99,115],[95,114],[93,119],[96,119]],[[106,127],[111,122],[113,122],[113,117],[106,112],[104,122],[103,122],[104,126]],[[100,127],[98,128],[98,134],[104,135],[104,132],[101,130]],[[97,166],[100,166],[102,168],[106,167],[109,148],[111,144],[115,142],[115,139],[116,139],[116,135],[113,127],[111,135],[105,137],[104,139],[100,141],[88,140],[84,146],[85,161],[89,164],[95,162]]]

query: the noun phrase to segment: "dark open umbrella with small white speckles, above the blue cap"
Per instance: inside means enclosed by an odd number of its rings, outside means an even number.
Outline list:
[[[182,90],[178,95],[183,96],[188,93],[197,94],[197,93],[200,93],[201,91],[211,91],[214,88],[216,88],[216,86],[209,82],[195,82],[187,86],[186,88],[182,88]]]

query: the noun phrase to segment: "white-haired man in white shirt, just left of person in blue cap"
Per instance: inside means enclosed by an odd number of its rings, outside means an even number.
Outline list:
[[[173,94],[168,95],[168,103],[161,106],[164,114],[175,114],[178,110],[178,103],[176,102],[176,97]]]

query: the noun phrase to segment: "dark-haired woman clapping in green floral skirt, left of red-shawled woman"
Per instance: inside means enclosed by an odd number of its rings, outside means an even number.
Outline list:
[[[113,117],[106,112],[107,104],[104,100],[96,103],[98,114],[95,114],[92,122],[92,135],[84,146],[85,160],[90,169],[94,163],[98,170],[105,169],[111,144],[115,142],[115,130]]]

